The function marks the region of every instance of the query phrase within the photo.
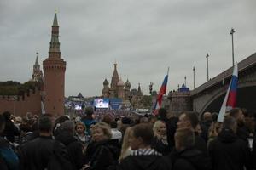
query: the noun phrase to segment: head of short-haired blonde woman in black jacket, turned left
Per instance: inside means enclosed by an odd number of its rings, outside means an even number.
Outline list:
[[[98,122],[91,128],[92,140],[100,142],[112,137],[111,129],[106,122]]]

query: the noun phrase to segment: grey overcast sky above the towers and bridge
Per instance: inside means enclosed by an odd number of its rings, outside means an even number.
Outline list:
[[[170,66],[167,90],[193,88],[256,52],[255,0],[0,0],[0,81],[26,82],[32,65],[48,57],[55,8],[61,58],[67,61],[65,95],[102,94],[113,63],[131,88],[149,82],[159,90]]]

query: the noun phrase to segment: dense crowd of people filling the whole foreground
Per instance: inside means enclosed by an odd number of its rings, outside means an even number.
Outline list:
[[[0,115],[0,169],[6,170],[250,170],[256,169],[253,114],[160,109],[158,115],[97,111]],[[253,140],[254,139],[254,140]]]

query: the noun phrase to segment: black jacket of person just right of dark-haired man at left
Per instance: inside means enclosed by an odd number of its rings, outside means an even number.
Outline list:
[[[74,169],[80,169],[84,165],[84,146],[81,144],[78,139],[73,137],[71,133],[62,131],[58,136],[55,137],[55,140],[60,141],[62,144],[65,144],[67,147],[67,155],[69,160],[74,166]]]

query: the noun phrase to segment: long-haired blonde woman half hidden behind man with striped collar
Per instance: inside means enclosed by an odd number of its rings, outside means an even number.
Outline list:
[[[131,127],[127,127],[125,130],[125,136],[123,139],[121,154],[119,156],[119,162],[121,162],[125,157],[131,155],[131,146],[128,139],[131,137]]]

